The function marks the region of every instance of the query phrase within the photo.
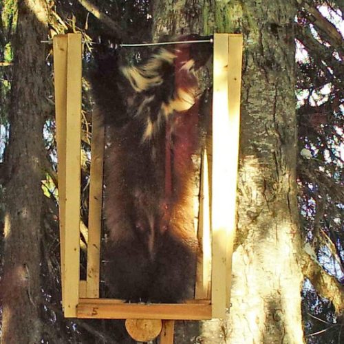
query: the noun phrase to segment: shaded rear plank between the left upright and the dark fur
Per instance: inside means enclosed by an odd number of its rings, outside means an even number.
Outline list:
[[[100,235],[103,205],[103,117],[94,112],[92,117],[91,172],[89,185],[89,234],[87,247],[87,297],[99,297]]]

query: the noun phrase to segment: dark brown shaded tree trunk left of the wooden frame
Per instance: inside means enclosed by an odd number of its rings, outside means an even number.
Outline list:
[[[6,152],[6,219],[1,343],[41,343],[40,259],[43,124],[47,103],[47,4],[18,1],[10,142]],[[45,105],[46,106],[46,105]]]

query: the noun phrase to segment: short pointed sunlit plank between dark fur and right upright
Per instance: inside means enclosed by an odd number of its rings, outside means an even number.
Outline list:
[[[200,253],[197,259],[197,275],[195,299],[210,297],[208,286],[211,279],[211,223],[208,183],[208,154],[206,149],[202,153],[200,188],[200,215],[198,222],[198,241]]]

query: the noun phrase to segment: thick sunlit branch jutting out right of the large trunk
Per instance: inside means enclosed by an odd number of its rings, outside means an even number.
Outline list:
[[[332,301],[337,314],[344,311],[344,288],[335,277],[328,275],[316,261],[311,252],[304,252],[302,259],[303,275],[310,279],[312,285],[322,297]]]

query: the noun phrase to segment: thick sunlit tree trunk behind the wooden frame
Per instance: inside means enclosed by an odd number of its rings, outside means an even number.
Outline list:
[[[282,0],[158,0],[153,9],[153,29],[158,33],[244,34],[231,307],[228,319],[204,322],[199,339],[202,343],[303,343],[294,97],[296,8]]]

